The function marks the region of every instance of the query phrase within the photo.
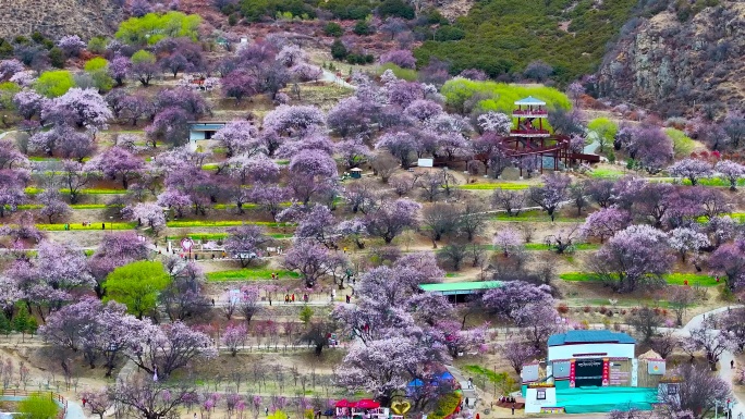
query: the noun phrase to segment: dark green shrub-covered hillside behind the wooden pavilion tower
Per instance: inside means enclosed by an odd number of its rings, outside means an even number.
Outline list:
[[[480,69],[492,77],[523,73],[542,60],[553,78],[567,82],[593,73],[606,46],[632,16],[636,0],[481,0],[455,26],[460,40],[426,41],[419,65],[449,60],[453,72]],[[511,77],[510,77],[511,78]]]

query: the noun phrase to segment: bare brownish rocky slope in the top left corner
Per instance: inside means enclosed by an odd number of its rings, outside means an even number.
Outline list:
[[[0,37],[4,38],[38,30],[52,38],[88,39],[113,33],[121,19],[113,0],[0,0]]]

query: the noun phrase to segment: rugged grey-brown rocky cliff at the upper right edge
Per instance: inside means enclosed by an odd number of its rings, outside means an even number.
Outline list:
[[[601,65],[601,96],[659,107],[663,116],[694,104],[745,107],[745,2],[722,1],[685,22],[664,11],[635,26]]]

